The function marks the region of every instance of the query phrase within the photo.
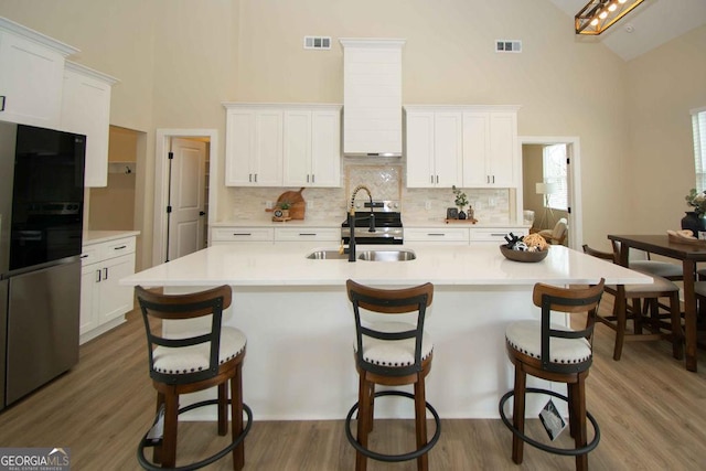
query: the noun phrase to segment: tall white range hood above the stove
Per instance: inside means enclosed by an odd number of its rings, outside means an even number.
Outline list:
[[[405,40],[341,39],[343,153],[402,156],[402,47]]]

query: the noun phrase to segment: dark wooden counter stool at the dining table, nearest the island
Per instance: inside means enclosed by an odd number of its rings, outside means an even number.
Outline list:
[[[584,251],[593,257],[614,263],[614,254],[596,250],[588,245],[584,245]],[[672,342],[672,355],[675,358],[682,358],[684,355],[684,332],[682,329],[680,287],[666,278],[638,270],[632,263],[630,268],[651,276],[652,283],[624,285],[624,310],[619,309],[618,287],[613,285],[606,286],[606,292],[614,297],[613,311],[611,315],[598,315],[597,320],[616,331],[613,360],[619,361],[622,356],[622,347],[625,341],[665,339]],[[660,303],[660,298],[667,298],[668,303]],[[661,310],[666,310],[667,312],[663,313]],[[632,320],[632,331],[628,331],[629,320]],[[643,332],[645,327],[649,328],[649,333]]]

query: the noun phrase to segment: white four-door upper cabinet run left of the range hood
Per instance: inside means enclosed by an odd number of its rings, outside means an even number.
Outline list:
[[[340,105],[226,103],[228,186],[340,186]]]

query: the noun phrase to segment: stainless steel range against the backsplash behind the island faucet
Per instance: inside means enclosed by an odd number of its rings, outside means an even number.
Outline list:
[[[375,215],[375,232],[370,232],[370,216]],[[357,244],[403,244],[402,214],[399,201],[355,202],[355,242]],[[341,238],[350,243],[351,228],[347,220],[341,224]]]

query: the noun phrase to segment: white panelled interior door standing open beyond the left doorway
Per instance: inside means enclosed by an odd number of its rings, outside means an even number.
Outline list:
[[[172,139],[168,260],[204,247],[205,142]]]

